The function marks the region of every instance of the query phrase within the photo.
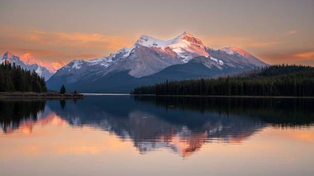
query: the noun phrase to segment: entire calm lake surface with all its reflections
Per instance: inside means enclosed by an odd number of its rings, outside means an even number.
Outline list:
[[[314,175],[314,99],[0,99],[1,175]]]

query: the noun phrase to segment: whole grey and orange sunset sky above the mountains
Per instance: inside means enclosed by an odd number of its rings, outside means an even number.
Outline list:
[[[215,50],[239,47],[270,64],[314,66],[314,1],[0,1],[0,55],[89,60],[141,35],[184,31]]]

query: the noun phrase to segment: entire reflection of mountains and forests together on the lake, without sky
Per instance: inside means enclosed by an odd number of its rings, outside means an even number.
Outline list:
[[[83,100],[0,100],[5,134],[68,123],[131,140],[140,153],[171,148],[186,158],[204,143],[241,144],[267,126],[307,128],[313,99],[87,96]]]

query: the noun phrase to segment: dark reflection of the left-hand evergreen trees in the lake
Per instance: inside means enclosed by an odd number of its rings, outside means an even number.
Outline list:
[[[46,100],[1,100],[0,123],[6,133],[7,129],[16,129],[22,120],[37,120],[38,113],[45,111]]]

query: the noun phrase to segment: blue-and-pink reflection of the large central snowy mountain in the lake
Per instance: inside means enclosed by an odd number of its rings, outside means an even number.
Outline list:
[[[84,104],[67,102],[64,111],[58,102],[51,101],[47,104],[72,125],[88,124],[108,130],[123,139],[132,139],[140,153],[167,147],[187,157],[198,151],[204,142],[241,142],[239,139],[249,137],[264,126],[249,118],[176,109],[166,111],[153,104],[134,102],[130,97],[114,98],[116,101],[104,97],[102,103],[97,102],[99,97],[87,97]],[[181,120],[167,120],[172,117],[180,117]]]

